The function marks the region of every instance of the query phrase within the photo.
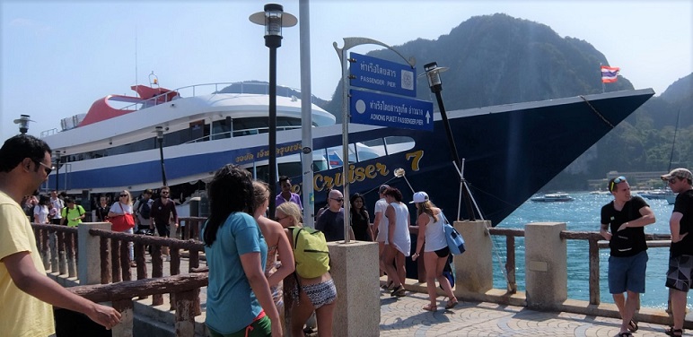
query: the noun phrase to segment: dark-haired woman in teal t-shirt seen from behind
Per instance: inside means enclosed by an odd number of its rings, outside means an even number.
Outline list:
[[[225,165],[207,185],[207,194],[210,214],[200,233],[209,267],[207,330],[213,337],[281,337],[282,324],[265,277],[268,245],[250,215],[250,172]]]

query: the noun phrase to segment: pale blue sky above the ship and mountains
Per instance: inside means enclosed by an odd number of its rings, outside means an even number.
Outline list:
[[[343,38],[364,37],[396,48],[413,39],[438,39],[470,17],[494,13],[589,42],[636,89],[653,88],[659,95],[693,73],[690,0],[310,0],[303,19],[299,0],[276,3],[298,17],[299,25],[310,24],[311,92],[321,99],[331,99],[341,76],[333,42],[341,48]],[[130,86],[149,83],[152,72],[168,89],[268,81],[264,27],[249,21],[264,4],[0,0],[0,138],[19,132],[13,120],[22,114],[34,121],[29,134],[39,136],[59,128],[62,118],[86,113],[96,99],[136,95]],[[301,88],[299,25],[284,29],[276,53],[276,82],[293,88]],[[417,60],[417,70],[432,61]]]

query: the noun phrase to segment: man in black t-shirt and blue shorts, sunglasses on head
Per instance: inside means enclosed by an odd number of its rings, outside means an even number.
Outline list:
[[[609,292],[621,315],[619,337],[637,330],[633,316],[645,292],[647,242],[645,226],[654,223],[654,212],[645,200],[630,195],[626,177],[614,177],[607,186],[614,200],[601,207],[601,236],[609,240]],[[627,297],[624,296],[627,293]]]

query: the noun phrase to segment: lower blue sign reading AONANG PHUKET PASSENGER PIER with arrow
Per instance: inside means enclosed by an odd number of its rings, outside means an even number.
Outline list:
[[[433,131],[433,103],[405,97],[352,90],[351,123]]]

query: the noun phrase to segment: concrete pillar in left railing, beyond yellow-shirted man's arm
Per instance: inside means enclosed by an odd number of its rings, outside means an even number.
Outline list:
[[[80,285],[101,284],[101,237],[89,234],[89,229],[110,230],[110,222],[82,222],[77,231],[77,270]]]

